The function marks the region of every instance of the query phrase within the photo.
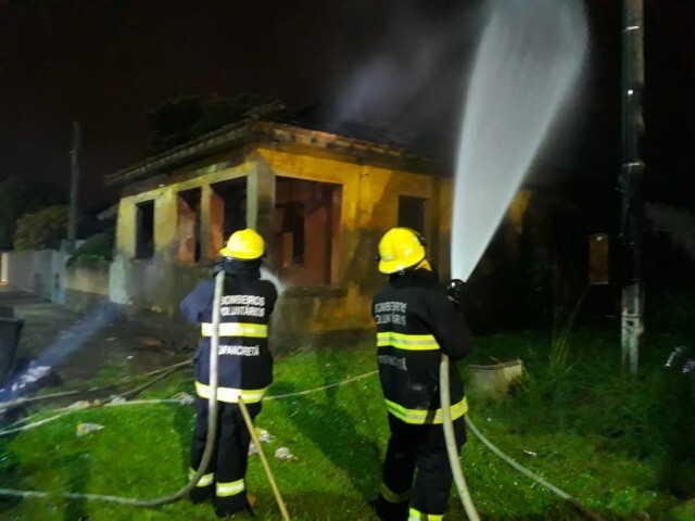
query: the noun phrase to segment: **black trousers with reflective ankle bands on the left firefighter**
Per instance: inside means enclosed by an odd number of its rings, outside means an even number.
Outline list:
[[[249,415],[255,418],[261,404],[248,404]],[[191,444],[191,469],[198,470],[207,440],[207,398],[195,398],[195,427]],[[251,434],[243,421],[238,404],[217,403],[217,433],[212,458],[205,476],[213,475],[212,484],[217,508],[222,513],[233,513],[247,508],[244,476],[249,462]],[[201,485],[205,481],[201,480]]]

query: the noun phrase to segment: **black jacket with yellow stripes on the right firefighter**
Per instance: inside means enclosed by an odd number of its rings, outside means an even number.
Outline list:
[[[391,415],[406,423],[442,423],[439,366],[451,358],[452,419],[468,410],[455,360],[470,351],[470,330],[437,276],[426,269],[391,276],[372,305],[381,387]]]

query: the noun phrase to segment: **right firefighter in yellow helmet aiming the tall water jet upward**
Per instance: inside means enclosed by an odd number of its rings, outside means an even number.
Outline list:
[[[454,361],[470,351],[470,331],[458,303],[439,284],[425,240],[415,230],[393,228],[382,237],[379,271],[389,282],[377,292],[372,315],[391,437],[376,511],[389,521],[441,520],[452,471],[442,428],[439,365],[442,353]],[[455,361],[450,381],[460,449],[468,405]]]

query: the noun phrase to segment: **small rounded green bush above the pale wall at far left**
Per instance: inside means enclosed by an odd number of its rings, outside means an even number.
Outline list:
[[[14,249],[58,250],[67,234],[68,206],[49,206],[17,220]]]

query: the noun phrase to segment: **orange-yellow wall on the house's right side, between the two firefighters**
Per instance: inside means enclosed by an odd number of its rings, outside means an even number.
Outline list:
[[[339,158],[260,148],[258,153],[276,176],[342,186],[340,281],[344,296],[325,296],[296,316],[293,297],[286,298],[288,322],[298,331],[325,331],[372,327],[370,307],[376,288],[386,282],[377,272],[378,240],[396,226],[399,196],[432,199],[429,175],[364,165]],[[426,205],[426,223],[431,218]],[[291,319],[290,319],[291,316]]]

